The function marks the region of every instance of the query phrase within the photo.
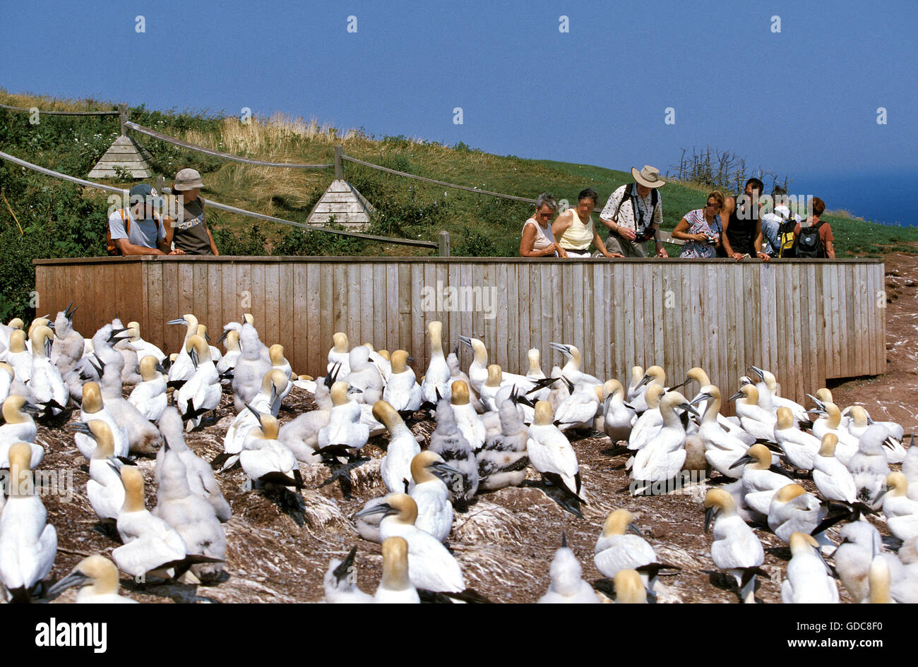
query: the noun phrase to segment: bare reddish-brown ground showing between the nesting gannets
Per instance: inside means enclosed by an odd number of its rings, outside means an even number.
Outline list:
[[[900,421],[906,433],[918,429],[918,258],[891,255],[887,260],[887,314],[889,371],[875,378],[856,379],[833,387],[836,402],[846,406],[867,406],[877,419]],[[311,408],[308,393],[294,389],[288,397],[286,421]],[[218,410],[218,422],[188,435],[196,453],[212,459],[222,451],[222,437],[233,418],[229,396]],[[414,427],[416,435],[429,440],[432,423]],[[50,579],[56,580],[84,556],[110,554],[118,546],[99,529],[95,514],[85,498],[88,475],[73,436],[63,431],[39,429],[45,445],[42,468],[66,476],[72,474],[73,497],[46,493],[48,520],[57,528],[59,553]],[[224,579],[215,585],[172,584],[140,590],[122,580],[130,595],[142,602],[317,602],[323,597],[322,577],[332,558],[342,558],[358,545],[358,583],[372,593],[381,575],[379,545],[359,539],[353,528],[353,514],[373,497],[383,495],[379,461],[386,439],[371,440],[364,454],[371,460],[353,471],[353,497],[345,499],[338,483],[320,486],[329,472],[320,466],[301,466],[306,482],[302,491],[305,515],[302,525],[271,499],[243,490],[245,475],[238,468],[220,476],[223,493],[233,517],[225,524],[229,543]],[[696,485],[679,494],[631,497],[624,471],[624,458],[606,452],[608,438],[580,439],[574,443],[589,503],[583,518],[571,515],[546,495],[531,474],[521,488],[503,489],[480,495],[465,512],[457,513],[449,547],[460,562],[466,583],[495,602],[534,602],[549,584],[549,564],[561,542],[562,532],[583,565],[584,577],[601,576],[593,565],[593,547],[602,522],[611,509],[625,507],[636,516],[637,525],[653,544],[662,561],[678,565],[677,576],[661,579],[661,602],[737,601],[734,591],[715,570],[710,556],[711,535],[704,532],[701,498],[704,486]],[[152,484],[153,461],[140,461],[147,481],[147,506],[155,505]],[[898,466],[897,466],[898,467]],[[808,491],[811,481],[801,484]],[[883,519],[872,518],[884,535]],[[764,569],[772,575],[763,581],[756,597],[762,602],[780,602],[780,580],[789,560],[789,550],[767,530],[756,530],[766,548]],[[830,531],[830,537],[834,530]],[[75,591],[57,601],[73,601]],[[846,593],[843,600],[851,602]]]

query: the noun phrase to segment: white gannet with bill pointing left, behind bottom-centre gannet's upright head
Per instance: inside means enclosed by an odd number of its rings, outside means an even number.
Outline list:
[[[408,569],[411,583],[425,591],[462,593],[465,579],[459,563],[442,543],[414,525],[418,506],[407,494],[387,495],[384,502],[364,509],[357,516],[383,515],[379,535],[386,539],[399,537],[408,542]]]

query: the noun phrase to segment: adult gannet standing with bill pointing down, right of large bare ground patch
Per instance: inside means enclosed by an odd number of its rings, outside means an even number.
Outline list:
[[[733,496],[723,489],[711,489],[704,498],[705,532],[714,521],[711,559],[721,570],[733,574],[740,601],[756,601],[756,574],[767,574],[759,566],[765,562],[765,551],[752,528],[736,514]]]

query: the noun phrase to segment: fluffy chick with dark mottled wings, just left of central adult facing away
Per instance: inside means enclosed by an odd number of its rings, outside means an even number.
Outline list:
[[[456,390],[453,387],[453,397]],[[505,486],[519,486],[526,479],[529,455],[526,442],[529,429],[522,423],[512,401],[500,404],[500,430],[487,436],[485,446],[476,453],[478,489],[497,491]]]

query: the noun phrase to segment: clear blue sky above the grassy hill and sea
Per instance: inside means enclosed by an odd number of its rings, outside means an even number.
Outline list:
[[[710,145],[791,177],[895,170],[918,182],[913,0],[0,7],[10,92],[248,106],[616,169],[666,171],[681,149]]]

